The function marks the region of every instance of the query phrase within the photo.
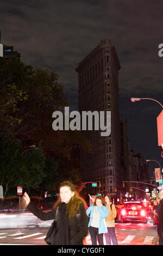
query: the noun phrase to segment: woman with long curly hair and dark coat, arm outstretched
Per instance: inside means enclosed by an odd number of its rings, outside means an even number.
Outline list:
[[[59,192],[59,198],[53,210],[49,212],[37,209],[30,202],[26,192],[23,194],[22,203],[42,221],[54,220],[57,212],[53,245],[83,245],[83,240],[88,233],[85,202],[77,195],[70,181],[62,182]]]

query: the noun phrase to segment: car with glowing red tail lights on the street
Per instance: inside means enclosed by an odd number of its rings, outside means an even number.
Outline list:
[[[148,211],[142,202],[124,202],[121,208],[121,220],[126,221],[141,221],[147,223]]]

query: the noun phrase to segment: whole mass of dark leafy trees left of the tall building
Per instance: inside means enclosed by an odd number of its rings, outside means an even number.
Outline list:
[[[91,143],[80,131],[52,129],[53,112],[68,106],[59,76],[17,59],[0,58],[0,71],[0,138],[5,138],[4,151],[2,147],[0,152],[3,184],[18,184],[28,190],[41,184],[55,189],[67,178],[79,184],[79,160],[72,154],[74,144],[91,152]],[[40,153],[33,149],[21,157],[22,148],[30,145],[39,147]],[[14,161],[12,168],[10,158]]]

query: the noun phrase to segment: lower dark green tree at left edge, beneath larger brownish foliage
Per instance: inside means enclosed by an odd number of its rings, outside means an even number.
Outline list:
[[[16,139],[1,140],[0,180],[5,187],[4,197],[9,188],[22,186],[28,191],[39,187],[46,176],[44,171],[46,156],[41,149],[31,149],[22,155],[22,143]]]

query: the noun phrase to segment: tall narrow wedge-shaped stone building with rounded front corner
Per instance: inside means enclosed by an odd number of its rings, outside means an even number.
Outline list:
[[[92,143],[92,153],[80,152],[85,189],[91,194],[119,196],[122,190],[118,71],[120,62],[111,40],[101,41],[77,66],[79,112],[111,111],[111,134],[82,131]],[[106,115],[105,115],[106,117]],[[90,183],[89,183],[90,182]],[[97,182],[97,187],[92,187]]]

